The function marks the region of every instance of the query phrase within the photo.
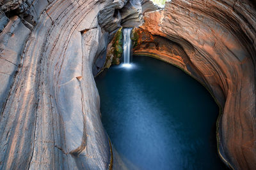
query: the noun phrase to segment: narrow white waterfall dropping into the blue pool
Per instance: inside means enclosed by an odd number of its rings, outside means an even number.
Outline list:
[[[123,31],[123,66],[130,67],[131,64],[131,31],[132,28],[124,28]]]

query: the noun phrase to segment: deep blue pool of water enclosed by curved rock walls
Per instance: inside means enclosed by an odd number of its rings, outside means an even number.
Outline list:
[[[226,169],[209,92],[161,60],[134,56],[132,63],[95,78],[102,123],[121,157],[138,169]]]

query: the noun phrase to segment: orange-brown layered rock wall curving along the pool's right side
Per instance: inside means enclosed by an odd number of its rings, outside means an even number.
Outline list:
[[[250,1],[178,1],[145,13],[135,55],[184,69],[221,108],[218,151],[233,169],[256,168],[256,11]]]

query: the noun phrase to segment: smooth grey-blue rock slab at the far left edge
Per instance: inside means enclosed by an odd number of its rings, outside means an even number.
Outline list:
[[[0,111],[3,110],[6,97],[12,87],[13,78],[20,64],[20,54],[29,33],[30,30],[20,22],[20,18],[14,16],[0,34]]]

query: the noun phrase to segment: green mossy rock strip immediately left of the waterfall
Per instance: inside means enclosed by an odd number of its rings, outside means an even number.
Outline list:
[[[120,59],[123,53],[123,34],[122,34],[122,27],[120,27],[120,29],[118,29],[118,31],[116,32],[114,38],[113,38],[113,60],[112,60],[112,64],[120,64]]]

